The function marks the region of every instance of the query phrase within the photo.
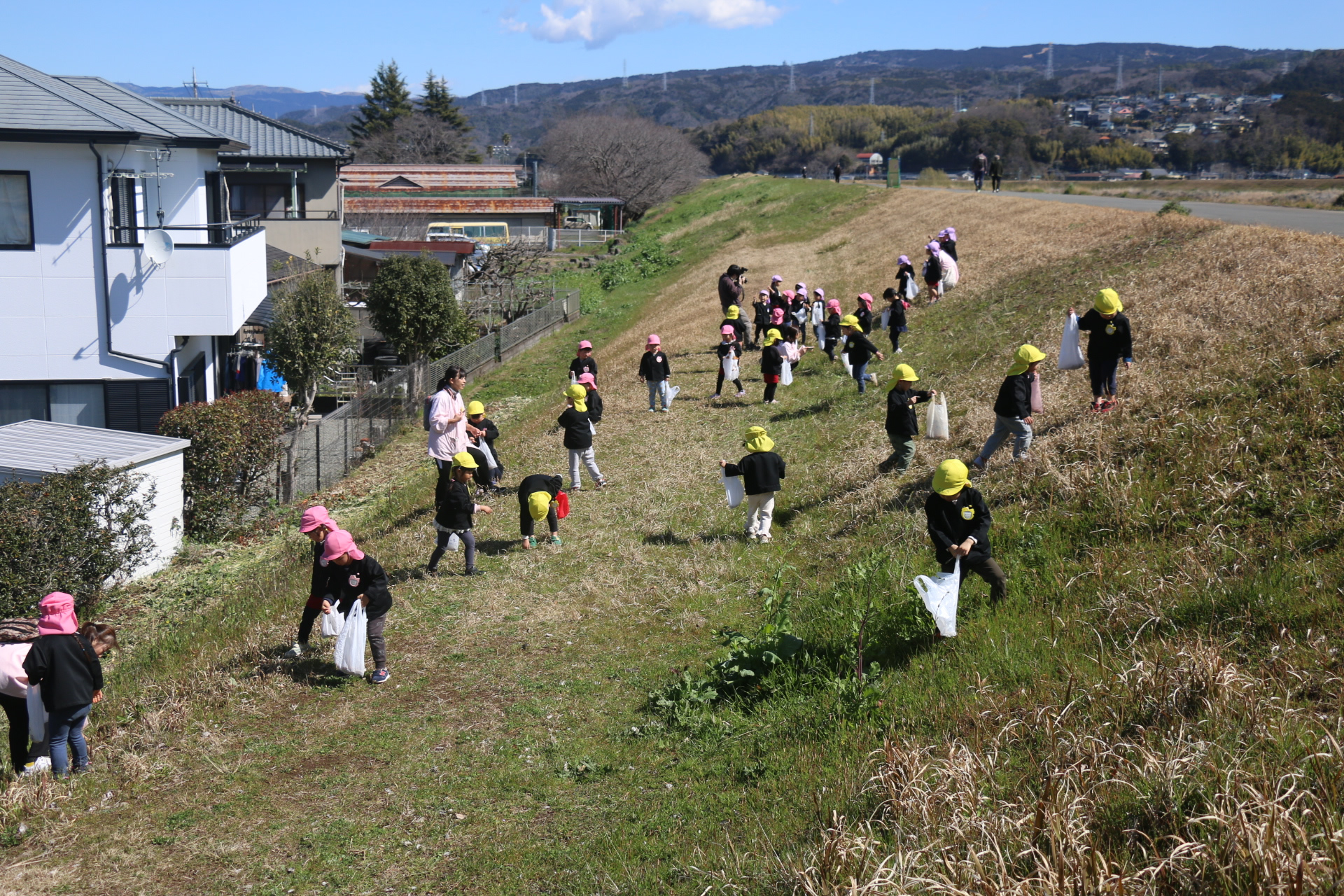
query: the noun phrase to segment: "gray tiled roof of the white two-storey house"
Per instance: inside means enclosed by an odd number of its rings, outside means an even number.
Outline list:
[[[58,78],[0,56],[0,140],[163,140],[242,149],[206,124],[102,78]]]

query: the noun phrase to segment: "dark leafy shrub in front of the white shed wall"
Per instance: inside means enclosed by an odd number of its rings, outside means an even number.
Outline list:
[[[36,613],[51,591],[87,604],[152,555],[145,477],[101,461],[0,485],[0,617]]]

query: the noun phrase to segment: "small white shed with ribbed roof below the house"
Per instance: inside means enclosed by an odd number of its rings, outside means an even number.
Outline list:
[[[0,482],[39,482],[91,461],[129,466],[142,474],[140,488],[155,488],[155,505],[146,520],[153,529],[155,553],[136,570],[138,579],[168,566],[181,545],[181,453],[190,445],[191,439],[20,420],[0,426]]]

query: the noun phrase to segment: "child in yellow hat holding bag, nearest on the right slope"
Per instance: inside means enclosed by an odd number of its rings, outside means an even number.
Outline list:
[[[933,474],[933,492],[925,501],[929,540],[943,572],[961,560],[961,580],[974,572],[989,583],[989,599],[999,603],[1007,594],[1004,571],[989,553],[989,525],[993,520],[980,492],[968,485],[966,465],[943,461]]]

